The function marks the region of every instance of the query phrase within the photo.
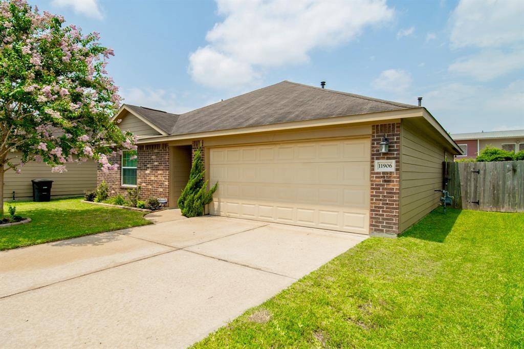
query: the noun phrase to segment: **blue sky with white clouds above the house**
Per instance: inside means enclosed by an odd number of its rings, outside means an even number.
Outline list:
[[[290,80],[524,128],[524,2],[30,1],[99,31],[125,103],[180,113]]]

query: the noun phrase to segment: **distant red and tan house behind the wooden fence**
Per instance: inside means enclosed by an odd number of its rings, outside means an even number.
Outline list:
[[[495,147],[513,152],[524,149],[524,129],[494,132],[455,133],[451,138],[461,147],[464,155],[457,159],[474,159],[486,147]]]

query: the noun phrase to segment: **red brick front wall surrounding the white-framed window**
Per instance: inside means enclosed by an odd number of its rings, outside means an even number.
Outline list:
[[[169,146],[163,144],[140,145],[137,151],[137,184],[140,185],[140,198],[169,198]],[[122,166],[121,155],[109,156],[111,163]],[[105,180],[110,196],[126,196],[128,187],[121,186],[121,169],[103,172],[98,170],[97,183]]]

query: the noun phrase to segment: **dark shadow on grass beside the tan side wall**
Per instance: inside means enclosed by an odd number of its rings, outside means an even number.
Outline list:
[[[447,235],[453,229],[455,221],[462,210],[447,209],[446,213],[442,208],[436,208],[422,220],[415,223],[400,237],[412,237],[416,239],[443,243]]]

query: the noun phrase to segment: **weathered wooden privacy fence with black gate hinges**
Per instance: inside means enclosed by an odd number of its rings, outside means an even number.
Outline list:
[[[524,212],[524,161],[444,162],[443,169],[455,208]]]

